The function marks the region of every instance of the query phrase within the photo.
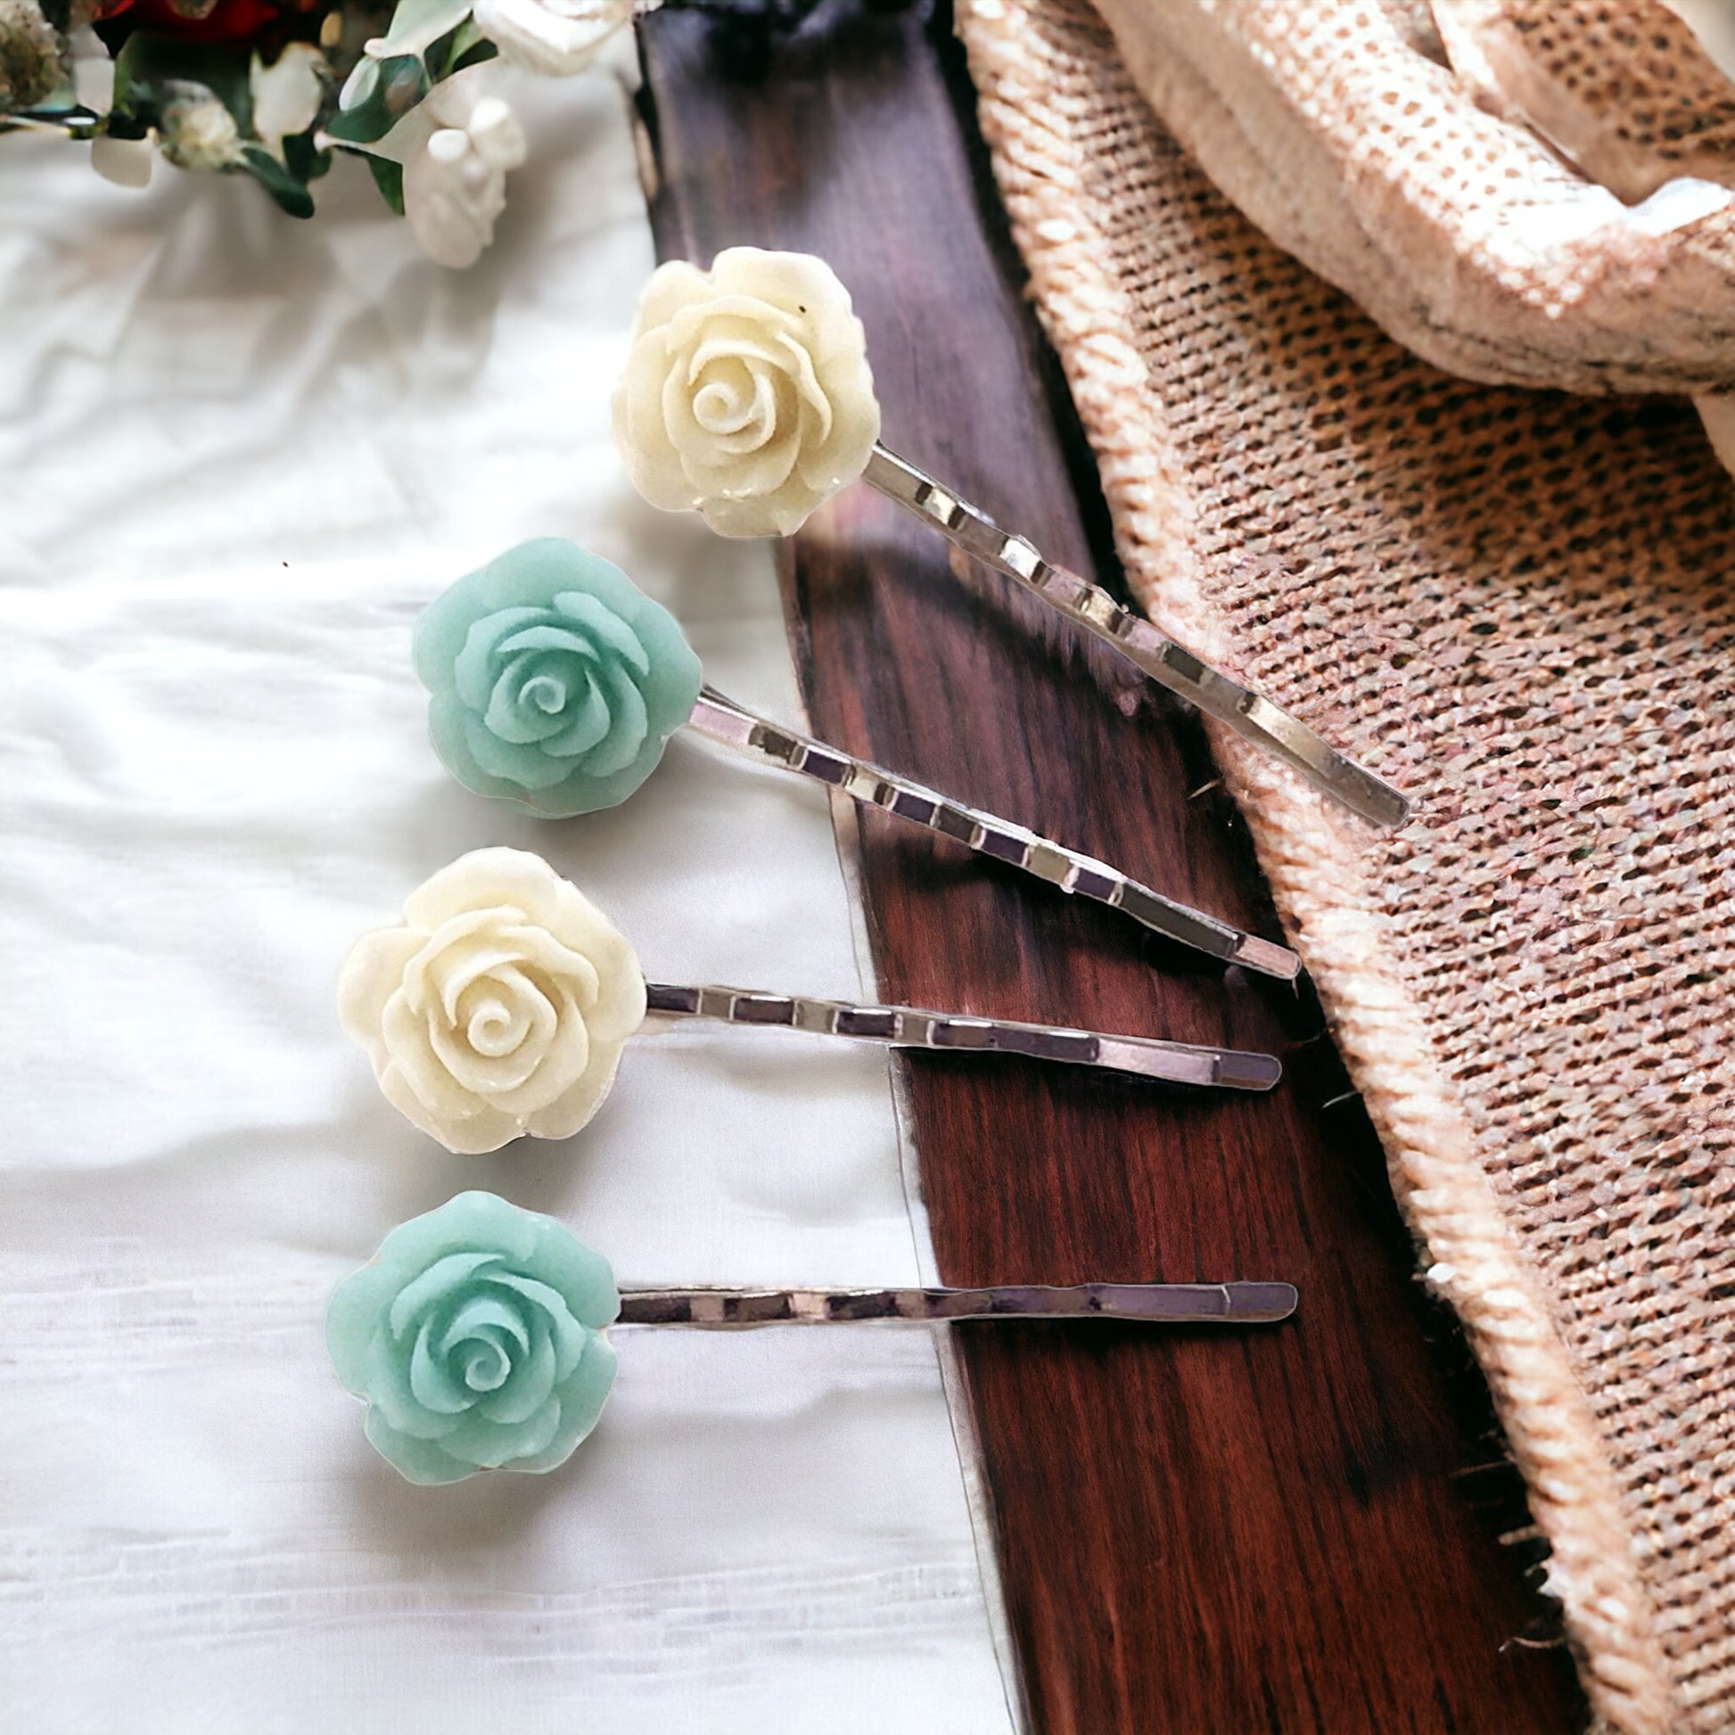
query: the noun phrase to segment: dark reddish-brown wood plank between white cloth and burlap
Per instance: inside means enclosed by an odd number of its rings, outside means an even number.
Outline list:
[[[885,439],[1116,585],[1070,409],[1020,302],[942,33],[829,10],[756,85],[708,24],[644,24],[665,255],[822,253],[868,326]],[[1277,937],[1197,723],[874,498],[784,545],[817,734]],[[959,581],[963,579],[963,581]],[[949,1282],[1289,1279],[1249,1332],[965,1327],[1018,1667],[1044,1735],[1565,1732],[1485,1393],[1421,1294],[1312,996],[866,814],[885,998],[1284,1055],[1273,1097],[918,1057]],[[909,1735],[925,1735],[906,1723]]]

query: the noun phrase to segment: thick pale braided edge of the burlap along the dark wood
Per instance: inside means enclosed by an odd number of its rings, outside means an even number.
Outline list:
[[[1057,43],[1050,31],[1065,29]],[[1091,224],[1088,160],[1057,57],[1090,43],[1095,78],[1124,82],[1112,43],[1070,0],[963,0],[958,29],[982,132],[1031,271],[1038,311],[1097,451],[1117,548],[1152,619],[1220,666],[1234,645],[1201,585],[1183,468],[1133,344],[1114,246]],[[1230,791],[1253,828],[1291,942],[1319,985],[1332,1031],[1385,1142],[1391,1183],[1489,1376],[1530,1508],[1553,1548],[1548,1588],[1598,1716],[1660,1735],[1679,1699],[1634,1565],[1596,1417],[1475,1143],[1426,1022],[1397,975],[1378,900],[1355,850],[1313,791],[1220,725],[1208,725]]]

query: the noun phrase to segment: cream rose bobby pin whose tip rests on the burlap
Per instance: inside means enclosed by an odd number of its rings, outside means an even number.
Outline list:
[[[723,536],[789,536],[866,481],[1362,819],[1409,817],[1391,784],[880,444],[866,333],[821,259],[736,246],[710,271],[658,267],[614,394],[614,441],[651,505],[697,508]]]

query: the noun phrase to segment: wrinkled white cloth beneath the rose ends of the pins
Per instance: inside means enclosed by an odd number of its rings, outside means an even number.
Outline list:
[[[241,180],[0,141],[0,1726],[33,1735],[999,1735],[933,1343],[621,1331],[550,1476],[413,1489],[324,1298],[463,1187],[623,1284],[909,1282],[883,1057],[638,1038],[578,1138],[451,1157],[338,1031],[356,933],[538,848],[651,975],[859,992],[824,802],[677,737],[517,817],[425,737],[409,626],[529,534],[618,560],[795,720],[770,557],[628,488],[651,239],[619,88],[540,85],[474,271],[357,165]]]

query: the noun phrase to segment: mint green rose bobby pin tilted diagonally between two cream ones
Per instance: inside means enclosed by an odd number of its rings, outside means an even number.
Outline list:
[[[685,723],[994,861],[1121,909],[1183,946],[1293,980],[1294,953],[1117,868],[756,717],[706,687],[680,625],[619,567],[557,538],[458,579],[416,623],[441,762],[467,789],[552,819],[625,802]]]

